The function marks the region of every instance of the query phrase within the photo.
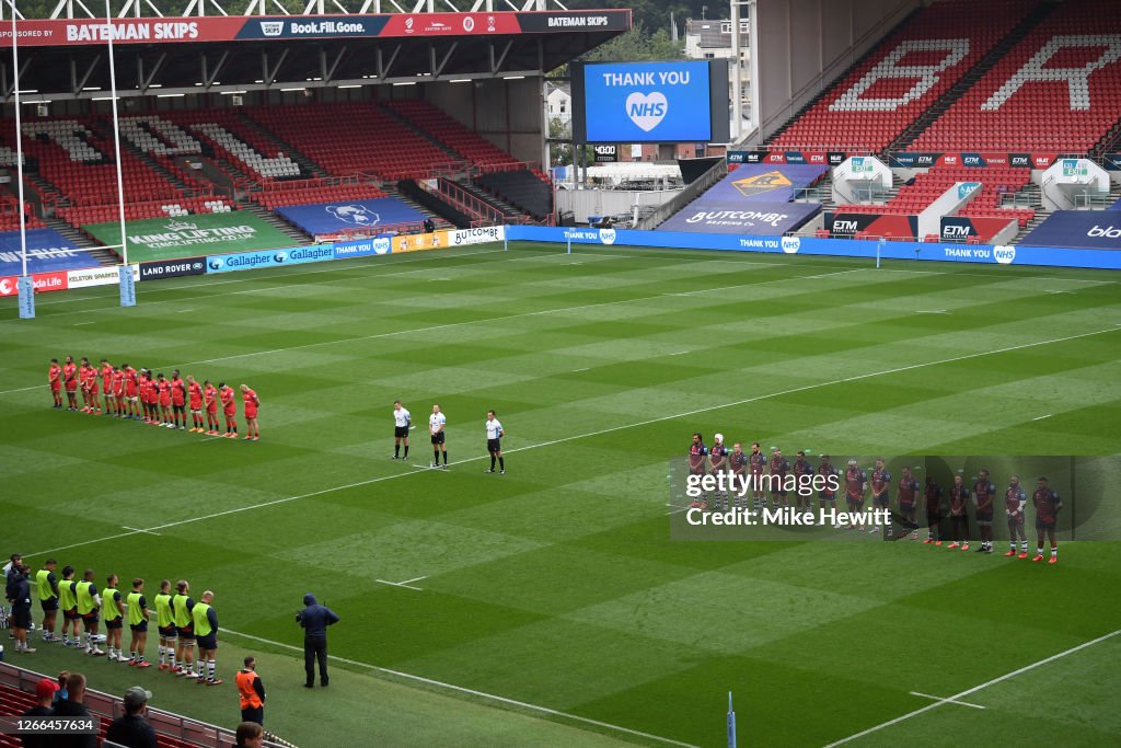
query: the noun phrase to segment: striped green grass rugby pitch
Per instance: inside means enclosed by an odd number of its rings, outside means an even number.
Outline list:
[[[511,244],[141,284],[131,310],[115,287],[43,295],[34,321],[6,299],[2,553],[188,579],[228,629],[220,689],[57,645],[9,661],[232,726],[250,650],[266,726],[302,748],[720,746],[729,691],[741,746],[1117,745],[1121,543],[1047,566],[1001,542],[674,542],[666,472],[694,431],[1118,454],[1119,280]],[[64,354],[247,382],[261,441],[53,410]],[[388,459],[395,398],[410,463]],[[447,472],[423,469],[437,401]],[[504,477],[482,473],[488,408]],[[307,591],[343,618],[312,692]]]

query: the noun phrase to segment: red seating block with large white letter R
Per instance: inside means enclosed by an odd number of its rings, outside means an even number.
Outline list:
[[[1064,2],[909,149],[1085,154],[1119,120],[1121,7]]]

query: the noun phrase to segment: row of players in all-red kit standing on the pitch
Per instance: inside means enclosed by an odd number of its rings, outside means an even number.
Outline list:
[[[238,437],[237,393],[224,381],[215,387],[209,379],[198,382],[189,375],[184,380],[178,369],[174,370],[168,379],[163,372],[152,373],[150,369],[133,369],[128,363],[114,367],[106,359],[101,360],[100,368],[91,366],[87,358],[75,364],[74,358],[67,355],[64,364],[59,364],[58,359],[50,359],[47,382],[55,408],[66,407],[74,413],[81,410],[90,415],[142,421],[155,426],[210,436]],[[77,406],[78,393],[82,395],[82,408]],[[102,394],[104,408],[102,408]],[[257,414],[260,398],[252,388],[242,385],[241,399],[245,416],[243,438],[251,442],[259,441]],[[219,405],[225,415],[225,433],[219,431]],[[191,412],[193,424],[189,430],[187,410]]]

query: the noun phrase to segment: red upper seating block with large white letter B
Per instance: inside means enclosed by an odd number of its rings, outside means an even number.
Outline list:
[[[918,11],[779,133],[772,146],[873,151],[887,148],[1036,4],[1037,0],[942,0]],[[933,85],[919,91],[916,86],[923,73],[908,71],[918,65],[946,67],[937,73]],[[910,100],[906,100],[908,92]]]

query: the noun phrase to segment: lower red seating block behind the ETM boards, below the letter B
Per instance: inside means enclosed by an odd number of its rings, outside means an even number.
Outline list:
[[[844,205],[837,210],[845,213],[873,213],[881,215],[915,215],[921,213],[935,200],[958,182],[980,182],[981,193],[965,204],[958,215],[974,218],[1007,218],[1016,220],[1023,228],[1035,218],[1031,209],[1002,209],[1001,196],[1016,193],[1031,181],[1031,169],[1013,168],[969,168],[934,167],[915,177],[899,193],[883,205]]]

